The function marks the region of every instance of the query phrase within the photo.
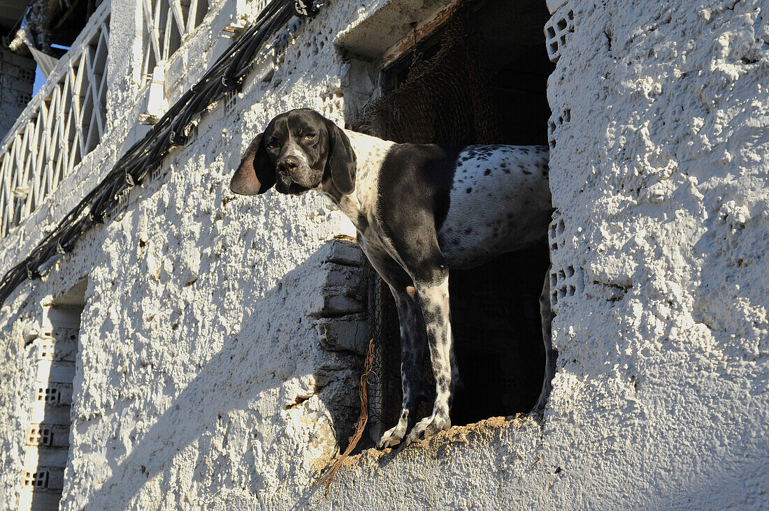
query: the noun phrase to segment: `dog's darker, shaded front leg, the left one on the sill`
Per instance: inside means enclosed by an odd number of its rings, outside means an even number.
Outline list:
[[[421,367],[424,357],[424,320],[414,299],[413,286],[390,285],[398,320],[401,324],[401,380],[403,383],[403,405],[398,424],[384,432],[377,442],[378,449],[401,443],[408,428],[416,422],[417,405],[421,390]]]

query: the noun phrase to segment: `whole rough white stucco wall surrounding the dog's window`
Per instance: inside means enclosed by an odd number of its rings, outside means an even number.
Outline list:
[[[356,37],[393,12],[408,27],[438,4],[329,5],[296,28],[270,81],[247,81],[231,113],[214,108],[165,177],[3,305],[0,506],[15,507],[33,379],[20,325],[83,276],[62,509],[765,505],[765,0],[561,7],[575,29],[548,83],[563,277],[544,422],[494,419],[368,451],[328,500],[311,486],[336,452],[334,427],[346,438],[357,413],[360,362],[323,350],[312,321],[332,238],[351,226],[312,194],[230,200],[228,178],[272,115],[309,106],[341,121],[346,65],[332,41],[362,48]],[[98,182],[126,133],[126,144],[141,135],[137,5],[112,8],[110,132],[89,160],[101,163],[81,168],[62,202]],[[251,8],[215,2],[206,35],[180,50],[180,83],[197,80],[228,43],[221,28]],[[17,257],[12,241],[3,264]]]

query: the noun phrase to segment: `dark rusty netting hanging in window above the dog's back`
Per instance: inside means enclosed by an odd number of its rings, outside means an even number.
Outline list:
[[[437,37],[431,57],[416,48],[404,57],[411,60],[401,71],[405,80],[363,108],[353,123],[355,131],[414,144],[501,141],[499,116],[481,64],[481,35],[474,31],[468,10],[454,14]]]

